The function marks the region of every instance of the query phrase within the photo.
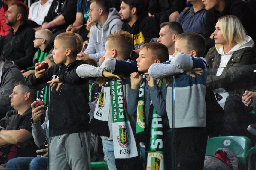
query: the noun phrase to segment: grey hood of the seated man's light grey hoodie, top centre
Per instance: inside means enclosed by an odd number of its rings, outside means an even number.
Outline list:
[[[98,23],[95,23],[97,31],[107,31],[109,29],[110,22],[112,22],[114,19],[120,19],[120,16],[115,8],[109,8],[108,19],[103,24],[103,26],[101,27]]]

